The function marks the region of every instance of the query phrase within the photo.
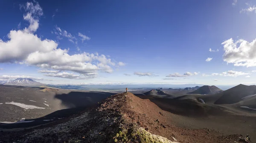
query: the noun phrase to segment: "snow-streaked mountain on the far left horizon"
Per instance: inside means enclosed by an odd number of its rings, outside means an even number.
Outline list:
[[[16,80],[4,83],[4,85],[39,87],[44,86],[45,84],[36,82],[30,78],[17,78]]]

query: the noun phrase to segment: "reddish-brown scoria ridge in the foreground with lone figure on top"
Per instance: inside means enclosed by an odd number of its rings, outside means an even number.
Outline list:
[[[223,136],[208,129],[184,129],[172,114],[148,99],[116,94],[96,108],[68,119],[20,132],[0,132],[0,143],[234,143],[239,135]]]

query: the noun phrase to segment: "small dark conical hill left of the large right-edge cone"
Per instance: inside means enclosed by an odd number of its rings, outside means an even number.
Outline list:
[[[189,92],[189,94],[215,94],[221,91],[222,90],[216,86],[202,86],[194,92]]]

